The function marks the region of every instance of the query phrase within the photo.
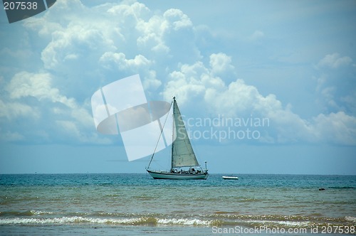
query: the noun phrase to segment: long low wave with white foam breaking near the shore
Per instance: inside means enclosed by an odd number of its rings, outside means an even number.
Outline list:
[[[327,218],[312,215],[240,215],[219,211],[213,214],[129,214],[129,213],[54,213],[38,210],[0,212],[0,225],[180,225],[243,227],[315,227],[322,225],[354,225],[356,218]]]

